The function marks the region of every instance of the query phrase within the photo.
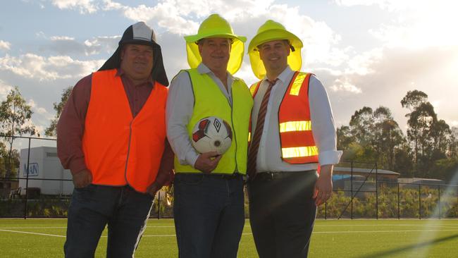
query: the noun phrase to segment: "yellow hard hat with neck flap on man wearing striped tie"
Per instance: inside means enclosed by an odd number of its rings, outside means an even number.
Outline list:
[[[266,42],[278,39],[287,39],[290,41],[291,50],[287,58],[287,63],[292,70],[300,70],[302,66],[302,41],[296,35],[285,29],[285,26],[273,20],[267,20],[266,23],[259,27],[258,32],[249,42],[248,54],[249,61],[252,64],[252,70],[257,78],[262,79],[266,75],[266,68],[259,57],[258,46]]]

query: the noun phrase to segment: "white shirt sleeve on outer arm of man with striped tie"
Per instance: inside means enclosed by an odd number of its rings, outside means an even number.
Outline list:
[[[338,164],[342,151],[336,148],[337,136],[328,93],[320,80],[313,75],[309,82],[309,103],[313,121],[311,130],[318,147],[318,162],[321,166]]]

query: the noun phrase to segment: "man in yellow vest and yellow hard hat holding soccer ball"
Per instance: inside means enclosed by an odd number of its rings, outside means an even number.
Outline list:
[[[179,257],[237,257],[245,224],[243,180],[247,171],[249,113],[253,100],[234,77],[242,63],[245,37],[212,14],[197,35],[187,36],[189,70],[171,82],[167,135],[175,152],[173,212]],[[197,121],[218,116],[233,140],[222,155],[198,153],[191,144]]]

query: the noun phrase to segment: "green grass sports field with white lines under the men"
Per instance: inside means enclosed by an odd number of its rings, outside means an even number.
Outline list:
[[[63,257],[65,235],[65,219],[0,219],[0,257]],[[135,254],[178,257],[173,220],[150,219]],[[257,257],[249,221],[238,257]],[[458,220],[317,220],[309,257],[458,257]]]

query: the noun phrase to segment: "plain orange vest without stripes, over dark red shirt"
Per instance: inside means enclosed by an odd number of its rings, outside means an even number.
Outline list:
[[[133,118],[116,69],[92,73],[82,149],[95,185],[130,185],[146,192],[156,180],[166,140],[168,90],[155,82]]]

